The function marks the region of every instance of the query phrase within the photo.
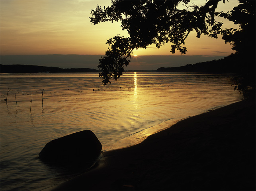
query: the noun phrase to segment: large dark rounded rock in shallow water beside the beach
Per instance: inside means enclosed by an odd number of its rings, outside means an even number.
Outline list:
[[[39,153],[45,162],[89,162],[95,160],[102,144],[90,130],[76,132],[47,143]]]

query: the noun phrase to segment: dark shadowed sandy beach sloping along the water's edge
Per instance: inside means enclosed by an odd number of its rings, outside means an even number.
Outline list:
[[[255,100],[181,120],[52,190],[255,190]]]

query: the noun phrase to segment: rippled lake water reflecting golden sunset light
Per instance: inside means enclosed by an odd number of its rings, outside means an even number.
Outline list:
[[[102,86],[98,73],[1,74],[1,190],[43,189],[84,172],[37,159],[52,139],[92,130],[103,150],[115,149],[138,143],[182,118],[241,100],[229,79],[125,73]]]

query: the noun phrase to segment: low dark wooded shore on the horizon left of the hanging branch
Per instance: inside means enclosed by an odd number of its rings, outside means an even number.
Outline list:
[[[90,68],[58,68],[35,65],[0,65],[0,73],[70,73],[70,72],[98,72],[96,69]]]

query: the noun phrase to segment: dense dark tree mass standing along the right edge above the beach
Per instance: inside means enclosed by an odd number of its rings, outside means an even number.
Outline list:
[[[238,90],[244,97],[255,98],[255,7],[256,1],[239,1],[230,13],[216,13],[239,24],[239,29],[222,29],[223,40],[229,42],[236,51],[237,59],[240,61],[240,75],[232,78],[234,90]]]

